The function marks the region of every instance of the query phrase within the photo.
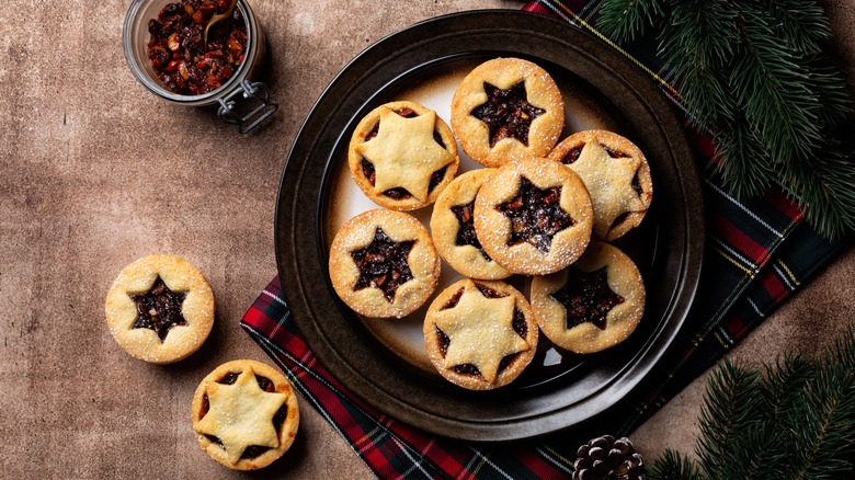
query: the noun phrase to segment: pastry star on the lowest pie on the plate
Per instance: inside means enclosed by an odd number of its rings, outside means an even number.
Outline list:
[[[449,340],[443,366],[471,364],[492,382],[502,358],[532,347],[514,331],[515,304],[512,295],[488,298],[467,285],[454,307],[436,313],[436,327]]]

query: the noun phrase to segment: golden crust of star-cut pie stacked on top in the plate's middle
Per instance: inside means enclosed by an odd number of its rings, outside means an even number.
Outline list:
[[[535,205],[557,217],[548,217],[549,222],[543,229],[528,229],[533,221],[512,220],[511,204],[522,202],[526,186],[537,195],[554,192],[550,199],[540,198]],[[566,216],[570,218],[569,225]],[[554,220],[565,222],[550,231]],[[573,263],[588,247],[592,220],[591,198],[579,175],[542,158],[518,160],[500,168],[485,182],[475,201],[475,231],[487,254],[504,268],[523,275],[546,275]],[[518,240],[521,232],[523,239]],[[543,238],[548,239],[544,240]]]

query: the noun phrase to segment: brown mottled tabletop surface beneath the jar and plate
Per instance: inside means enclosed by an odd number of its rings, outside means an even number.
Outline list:
[[[169,104],[136,82],[121,44],[129,3],[0,3],[0,478],[244,477],[200,449],[190,403],[220,363],[267,361],[238,321],[275,273],[274,199],[297,128],[333,76],[383,36],[443,13],[521,5],[250,0],[270,46],[262,80],[282,106],[240,136],[212,110]],[[855,78],[855,0],[822,3]],[[161,252],[195,263],[218,306],[205,345],[170,366],[126,355],[103,313],[118,271]],[[731,356],[819,351],[853,321],[853,278],[850,250]],[[632,435],[649,459],[693,448],[704,385]],[[372,478],[305,402],[301,413],[294,448],[250,477]]]

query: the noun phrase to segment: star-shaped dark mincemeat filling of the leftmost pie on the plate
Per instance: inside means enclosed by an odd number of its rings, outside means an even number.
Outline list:
[[[353,289],[379,288],[384,298],[391,304],[398,287],[413,278],[407,258],[414,244],[415,240],[392,241],[377,227],[368,247],[351,252],[360,268],[360,278]]]

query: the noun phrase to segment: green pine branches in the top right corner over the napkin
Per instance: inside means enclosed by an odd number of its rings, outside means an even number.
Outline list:
[[[853,102],[816,0],[603,0],[597,26],[618,41],[660,28],[659,55],[689,119],[714,133],[728,191],[778,182],[821,235],[855,231],[855,156],[834,141],[855,133]]]

